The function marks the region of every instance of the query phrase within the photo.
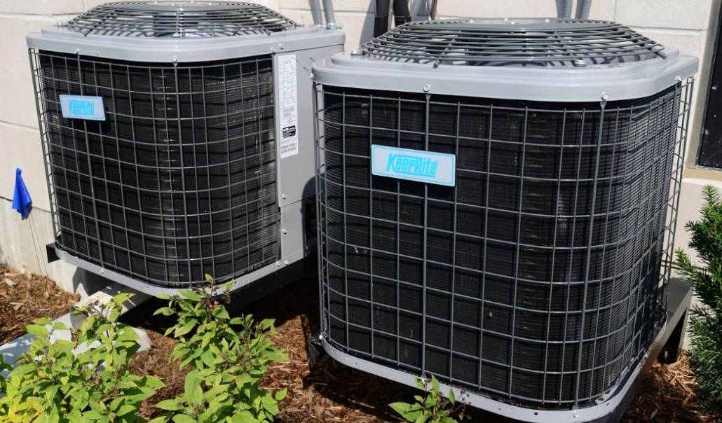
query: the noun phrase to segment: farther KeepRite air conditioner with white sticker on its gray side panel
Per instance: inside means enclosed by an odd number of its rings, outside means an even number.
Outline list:
[[[58,256],[149,293],[304,257],[310,66],[342,32],[251,3],[121,1],[27,44]]]

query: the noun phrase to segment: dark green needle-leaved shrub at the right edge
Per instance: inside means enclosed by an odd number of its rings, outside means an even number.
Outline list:
[[[703,266],[695,266],[683,250],[677,265],[692,282],[701,305],[690,310],[691,365],[706,411],[722,411],[722,198],[713,186],[703,190],[700,219],[685,226],[690,248]]]

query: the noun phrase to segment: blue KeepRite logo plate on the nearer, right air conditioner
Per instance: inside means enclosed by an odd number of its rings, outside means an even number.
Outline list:
[[[454,186],[456,184],[456,156],[372,145],[371,173],[397,179]]]

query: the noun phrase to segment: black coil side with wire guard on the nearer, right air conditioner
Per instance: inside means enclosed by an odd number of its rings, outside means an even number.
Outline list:
[[[664,324],[692,79],[559,105],[317,85],[321,325],[344,354],[571,409]],[[456,155],[456,186],[370,172]]]

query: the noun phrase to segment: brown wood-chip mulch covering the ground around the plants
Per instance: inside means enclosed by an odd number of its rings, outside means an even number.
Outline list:
[[[24,274],[0,266],[0,344],[22,335],[22,326],[33,318],[67,313],[77,297],[58,289],[41,276]],[[142,414],[158,413],[151,404],[178,396],[183,391],[185,373],[169,363],[173,340],[162,336],[168,320],[153,317],[164,305],[150,300],[124,317],[127,323],[145,328],[154,347],[140,352],[134,372],[155,375],[166,388],[144,404]],[[290,362],[271,367],[263,381],[271,390],[288,388],[277,422],[399,422],[388,404],[412,401],[416,390],[346,367],[329,357],[308,360],[308,339],[318,333],[318,292],[313,282],[300,281],[235,312],[256,318],[274,318],[275,342],[290,356]],[[477,410],[466,409],[471,422],[493,423],[497,419]],[[705,417],[697,404],[689,361],[686,355],[672,364],[653,366],[638,389],[622,422],[710,423],[720,419]]]

